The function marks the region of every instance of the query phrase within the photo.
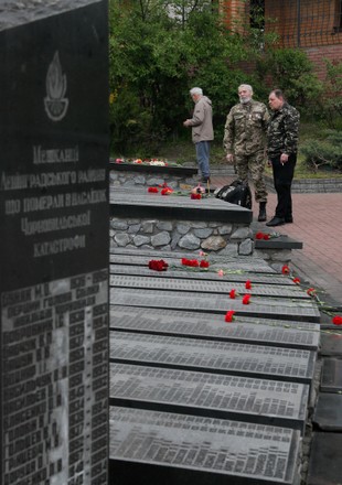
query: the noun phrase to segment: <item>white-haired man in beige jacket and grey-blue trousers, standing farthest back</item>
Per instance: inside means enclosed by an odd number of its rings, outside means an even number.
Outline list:
[[[212,101],[203,96],[200,87],[190,89],[195,104],[192,118],[186,119],[184,127],[192,127],[192,141],[196,149],[196,159],[201,172],[201,181],[210,182],[210,143],[214,139]]]

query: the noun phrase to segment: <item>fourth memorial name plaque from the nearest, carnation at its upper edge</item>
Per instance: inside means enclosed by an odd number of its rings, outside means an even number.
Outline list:
[[[227,325],[222,315],[213,313],[130,306],[110,308],[110,327],[126,332],[308,349],[317,349],[320,338],[320,326],[314,323],[239,316]]]

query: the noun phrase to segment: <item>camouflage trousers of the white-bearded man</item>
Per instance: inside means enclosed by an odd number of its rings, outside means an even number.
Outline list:
[[[255,188],[255,201],[267,202],[267,188],[264,179],[265,154],[264,150],[250,155],[235,155],[235,169],[238,179],[248,182],[252,179]]]

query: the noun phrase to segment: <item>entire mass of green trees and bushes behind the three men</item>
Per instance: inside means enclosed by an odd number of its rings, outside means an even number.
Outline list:
[[[323,85],[302,51],[274,48],[276,35],[264,34],[260,10],[241,36],[226,29],[217,3],[109,0],[109,112],[116,153],[158,155],[163,140],[190,142],[183,120],[192,116],[189,90],[194,86],[213,101],[220,143],[238,85],[250,84],[255,99],[265,103],[270,78],[299,108],[301,119],[307,115],[342,129],[342,101],[336,96],[342,90],[342,63],[327,63]],[[257,68],[247,75],[242,66],[249,61]]]

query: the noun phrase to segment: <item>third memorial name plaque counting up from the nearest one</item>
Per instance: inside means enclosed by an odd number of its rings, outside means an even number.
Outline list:
[[[200,338],[110,332],[110,359],[308,384],[316,353]]]

